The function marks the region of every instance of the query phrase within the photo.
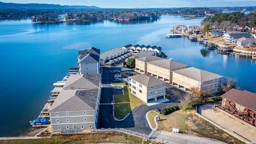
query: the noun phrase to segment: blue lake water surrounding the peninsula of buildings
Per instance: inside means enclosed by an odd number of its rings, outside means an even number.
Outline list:
[[[166,38],[174,25],[200,25],[203,18],[162,16],[155,21],[84,24],[31,24],[31,19],[0,20],[0,136],[31,128],[52,84],[77,67],[78,50],[106,52],[127,44],[161,46],[174,61],[236,78],[242,90],[256,92],[256,64],[250,56],[222,55],[188,38]]]

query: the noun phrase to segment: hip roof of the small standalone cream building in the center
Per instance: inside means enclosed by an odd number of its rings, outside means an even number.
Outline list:
[[[156,86],[158,84],[166,83],[166,82],[164,82],[158,78],[155,78],[154,76],[151,76],[149,74],[138,74],[135,76],[129,76],[129,78],[135,80],[136,82],[138,82],[146,87]]]

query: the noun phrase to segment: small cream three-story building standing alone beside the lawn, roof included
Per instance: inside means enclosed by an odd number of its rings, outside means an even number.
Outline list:
[[[156,101],[158,98],[165,98],[166,84],[149,74],[129,76],[129,92],[146,103],[149,100]]]

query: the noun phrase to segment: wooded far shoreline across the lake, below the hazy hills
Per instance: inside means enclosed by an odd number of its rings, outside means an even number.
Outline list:
[[[96,20],[102,18],[122,18],[130,20],[157,18],[163,14],[203,16],[204,12],[218,14],[221,10],[213,8],[73,8],[73,9],[0,9],[1,18],[30,18],[34,22],[56,21],[58,15],[67,14],[65,20]],[[47,17],[47,18],[46,18]]]

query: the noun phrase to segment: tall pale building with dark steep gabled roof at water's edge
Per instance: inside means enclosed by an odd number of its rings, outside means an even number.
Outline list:
[[[80,74],[100,73],[100,50],[91,47],[87,50],[78,51],[78,72]]]

